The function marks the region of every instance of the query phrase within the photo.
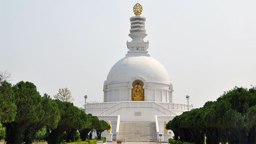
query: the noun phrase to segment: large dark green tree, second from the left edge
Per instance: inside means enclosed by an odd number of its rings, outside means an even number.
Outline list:
[[[17,110],[13,122],[2,123],[6,127],[5,140],[7,143],[23,143],[25,130],[42,116],[42,98],[31,82],[21,81],[12,87],[9,85],[9,88],[13,93],[6,93],[5,96],[14,95]]]

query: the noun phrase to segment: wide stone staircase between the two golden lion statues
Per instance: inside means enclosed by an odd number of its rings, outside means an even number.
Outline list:
[[[120,122],[118,139],[125,139],[126,142],[156,140],[155,122]]]

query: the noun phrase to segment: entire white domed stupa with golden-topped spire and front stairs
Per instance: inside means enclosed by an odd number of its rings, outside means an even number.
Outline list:
[[[148,41],[143,41],[147,34],[146,18],[140,16],[142,6],[137,3],[133,11],[136,16],[130,18],[132,41],[126,42],[128,52],[114,64],[104,81],[104,102],[86,104],[86,113],[111,121],[112,133],[118,139],[149,141],[160,139],[159,134],[164,134],[164,121],[190,110],[190,105],[173,103],[172,81],[164,66],[148,54]],[[150,127],[151,131],[139,138],[141,127],[138,125]],[[137,131],[137,138],[125,126]]]

